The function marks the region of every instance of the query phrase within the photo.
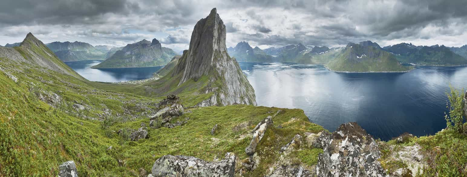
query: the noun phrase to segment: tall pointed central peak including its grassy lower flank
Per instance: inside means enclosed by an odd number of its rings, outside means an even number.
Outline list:
[[[200,107],[256,105],[255,90],[238,62],[227,54],[226,26],[216,8],[196,23],[189,49],[177,66],[147,86],[157,95],[185,93]]]

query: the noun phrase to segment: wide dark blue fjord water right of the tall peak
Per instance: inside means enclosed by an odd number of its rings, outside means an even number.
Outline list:
[[[449,84],[467,87],[467,67],[417,67],[408,73],[336,73],[320,65],[241,62],[261,106],[303,109],[334,131],[357,122],[376,138],[446,127]]]

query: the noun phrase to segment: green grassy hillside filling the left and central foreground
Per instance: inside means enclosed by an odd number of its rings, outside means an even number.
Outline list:
[[[96,90],[74,77],[52,71],[50,74],[55,75],[53,77],[35,68],[28,69],[25,76],[19,72],[9,72],[18,76],[19,82],[15,83],[0,73],[0,85],[3,86],[0,94],[6,95],[0,98],[0,106],[4,108],[0,110],[0,176],[57,176],[58,165],[67,160],[77,163],[79,176],[135,176],[139,168],[149,171],[154,161],[166,154],[195,156],[211,161],[226,152],[234,152],[239,159],[243,159],[247,157],[244,149],[251,136],[242,135],[278,110],[246,105],[191,109],[192,113],[173,120],[190,117],[184,126],[149,129],[149,139],[131,142],[111,130],[137,129],[141,123],[148,124],[149,118],[145,116],[147,114],[140,114],[146,109],[134,109],[135,119],[120,119],[126,117],[127,109],[133,108],[131,103],[126,102],[135,100],[136,103],[146,102],[144,105],[150,106],[156,100]],[[52,83],[37,81],[39,77]],[[69,83],[59,82],[63,80]],[[63,98],[62,104],[53,108],[39,101],[29,91],[32,85],[33,90],[57,93]],[[91,108],[77,112],[71,107],[74,102],[90,105]],[[100,121],[83,118],[101,113],[99,110],[105,108],[100,104],[106,104],[111,112],[122,115],[107,129],[101,127]],[[297,118],[296,121],[289,122],[292,117]],[[266,170],[266,163],[275,162],[275,152],[295,134],[322,130],[322,127],[308,122],[300,109],[282,109],[274,122],[283,128],[270,129],[265,136],[268,141],[264,141],[274,151],[259,149],[261,153],[272,153],[271,159],[266,158],[263,166],[252,172],[252,176]],[[212,136],[210,130],[214,124],[219,124],[219,131]],[[234,129],[237,125],[245,126]],[[113,146],[112,150],[106,150],[109,146]],[[315,156],[312,157],[314,159],[317,154],[311,156]],[[310,155],[304,157],[311,158]],[[117,159],[124,160],[126,164],[120,167]],[[309,162],[309,159],[303,161]]]

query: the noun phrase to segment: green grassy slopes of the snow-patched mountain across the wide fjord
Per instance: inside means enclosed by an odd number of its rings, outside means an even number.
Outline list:
[[[360,45],[353,45],[354,48],[347,47],[340,53],[336,59],[330,61],[327,67],[336,71],[350,71],[350,72],[369,72],[369,71],[406,71],[410,70],[409,67],[402,66],[396,58],[389,52],[377,50],[369,47],[370,52],[379,53],[377,58],[369,58],[362,56],[361,60],[349,59],[348,56],[357,53],[362,53],[363,47]]]

